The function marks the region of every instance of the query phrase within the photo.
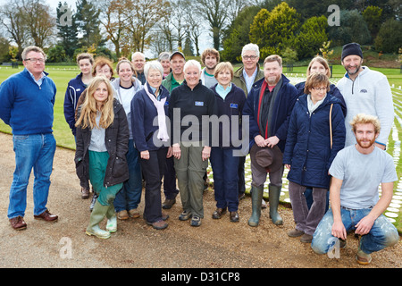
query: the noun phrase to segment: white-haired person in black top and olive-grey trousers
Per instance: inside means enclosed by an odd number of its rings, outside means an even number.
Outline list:
[[[201,225],[201,219],[204,218],[203,177],[211,154],[208,139],[210,122],[203,120],[203,117],[217,114],[214,91],[201,83],[200,75],[201,64],[189,60],[184,65],[185,80],[179,87],[173,88],[169,102],[172,155],[183,206],[179,219],[187,221],[192,217],[192,226]],[[188,123],[182,123],[186,116],[195,119],[189,127],[191,134],[188,132]]]

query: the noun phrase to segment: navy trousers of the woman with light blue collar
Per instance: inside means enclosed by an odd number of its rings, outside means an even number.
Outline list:
[[[239,156],[233,149],[212,147],[210,162],[214,172],[216,207],[228,207],[230,212],[239,206]]]

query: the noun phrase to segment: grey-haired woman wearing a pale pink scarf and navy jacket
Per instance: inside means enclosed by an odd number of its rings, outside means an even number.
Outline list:
[[[156,230],[163,230],[168,226],[165,221],[169,217],[162,214],[161,186],[166,156],[171,151],[165,117],[170,96],[162,85],[161,63],[146,63],[144,74],[147,80],[144,88],[131,101],[131,130],[146,181],[144,219]]]

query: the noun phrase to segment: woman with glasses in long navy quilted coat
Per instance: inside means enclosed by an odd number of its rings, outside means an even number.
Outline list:
[[[331,163],[345,146],[345,120],[338,98],[331,96],[330,81],[322,73],[306,80],[305,95],[298,97],[289,122],[283,164],[289,169],[289,198],[296,228],[290,237],[311,242],[325,214],[330,187]],[[306,204],[306,187],[313,189],[314,202]]]

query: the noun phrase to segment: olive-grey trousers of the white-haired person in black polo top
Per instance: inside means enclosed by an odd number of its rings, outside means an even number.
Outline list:
[[[208,167],[208,160],[202,159],[203,148],[180,143],[180,159],[174,158],[183,210],[200,218],[204,218],[204,174]]]

